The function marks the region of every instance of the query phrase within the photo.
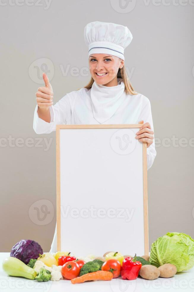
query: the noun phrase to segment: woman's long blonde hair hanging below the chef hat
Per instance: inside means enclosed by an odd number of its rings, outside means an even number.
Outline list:
[[[125,69],[125,65],[121,69],[119,68],[117,72],[117,78],[123,79],[123,82],[125,84],[125,92],[127,94],[131,94],[131,95],[138,94],[137,92],[134,91],[133,86],[131,85],[131,82],[129,81],[129,78]],[[91,77],[89,83],[86,86],[84,86],[84,88],[90,89],[93,83],[94,83],[94,79],[93,77]]]

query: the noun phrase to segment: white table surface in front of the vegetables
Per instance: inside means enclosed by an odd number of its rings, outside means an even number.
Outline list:
[[[138,277],[136,280],[123,280],[121,277],[111,281],[94,281],[81,284],[71,284],[69,280],[37,282],[22,277],[8,276],[2,269],[4,258],[9,252],[0,253],[0,291],[37,291],[37,292],[156,292],[156,291],[194,291],[194,268],[179,272],[172,278],[158,278],[145,280]]]

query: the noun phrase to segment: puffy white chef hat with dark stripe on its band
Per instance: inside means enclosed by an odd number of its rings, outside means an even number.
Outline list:
[[[84,40],[91,54],[109,54],[123,60],[124,49],[131,43],[132,34],[121,24],[93,21],[84,28]]]

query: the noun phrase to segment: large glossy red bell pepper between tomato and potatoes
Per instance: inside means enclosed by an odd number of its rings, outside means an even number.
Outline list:
[[[139,270],[141,269],[141,262],[136,261],[135,257],[125,257],[123,260],[123,265],[121,267],[121,277],[126,280],[135,280],[139,275]]]

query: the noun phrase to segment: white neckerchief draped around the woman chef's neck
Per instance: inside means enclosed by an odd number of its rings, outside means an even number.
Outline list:
[[[105,86],[97,84],[95,81],[91,87],[91,100],[93,116],[100,124],[110,119],[117,111],[125,96],[125,84],[122,78],[116,86]]]

